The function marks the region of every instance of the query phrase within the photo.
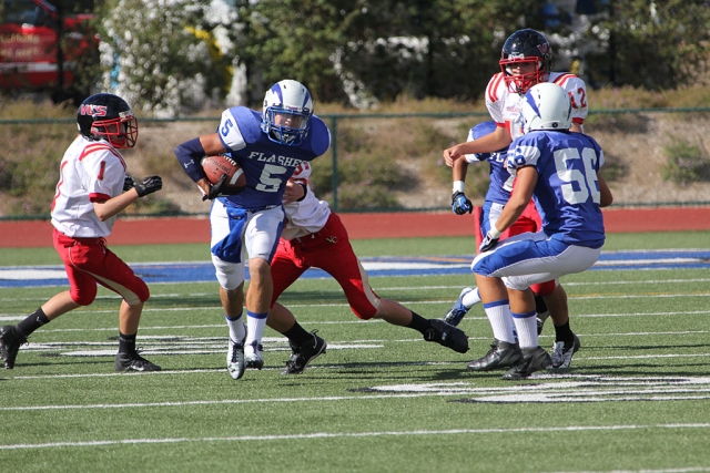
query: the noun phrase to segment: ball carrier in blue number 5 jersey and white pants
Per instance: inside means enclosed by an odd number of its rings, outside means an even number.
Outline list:
[[[297,81],[275,83],[262,113],[244,106],[222,112],[215,133],[182,143],[175,156],[212,200],[212,263],[230,328],[227,371],[240,379],[245,368],[262,369],[261,340],[271,305],[271,259],[283,228],[282,198],[296,167],[331,146],[327,125],[313,114],[313,99]],[[202,169],[207,155],[226,154],[244,169],[246,186],[230,188],[225,177],[212,185]],[[250,284],[244,297],[244,266]],[[246,327],[243,307],[246,299]]]

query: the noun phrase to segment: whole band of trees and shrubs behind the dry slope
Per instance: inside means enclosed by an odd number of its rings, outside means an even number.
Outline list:
[[[707,74],[710,48],[708,0],[54,3],[72,12],[95,3],[106,80],[99,84],[98,61],[87,55],[81,88],[113,88],[134,106],[166,115],[217,105],[232,66],[245,69],[246,79],[231,102],[239,96],[250,106],[284,78],[305,83],[321,102],[355,107],[399,96],[478,100],[499,70],[503,42],[519,28],[550,39],[557,70],[579,60],[590,88],[677,88]],[[562,3],[576,10],[562,11]],[[223,11],[209,14],[216,4]],[[216,41],[221,28],[229,34]]]

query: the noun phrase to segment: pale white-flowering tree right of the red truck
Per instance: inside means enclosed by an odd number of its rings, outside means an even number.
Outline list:
[[[106,0],[98,9],[104,89],[158,115],[224,97],[231,58],[215,53],[209,2]]]

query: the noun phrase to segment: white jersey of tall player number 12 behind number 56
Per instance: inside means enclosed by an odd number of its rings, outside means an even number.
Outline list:
[[[585,81],[569,72],[550,72],[548,82],[554,82],[567,91],[572,103],[572,123],[585,123],[587,112],[587,85]],[[525,95],[519,95],[506,86],[503,72],[494,75],[486,86],[486,106],[498,126],[505,126],[513,140],[523,135],[520,107]]]

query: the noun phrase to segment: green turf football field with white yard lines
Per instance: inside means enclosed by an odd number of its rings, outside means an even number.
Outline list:
[[[358,240],[361,256],[460,255],[467,238]],[[605,249],[710,248],[710,233],[610,235]],[[126,261],[207,259],[203,245],[116,247]],[[0,249],[0,265],[57,265]],[[442,317],[471,276],[372,278]],[[710,471],[710,270],[588,271],[562,279],[581,339],[572,368],[534,380],[470,373],[489,348],[478,306],[459,354],[408,329],[359,321],[333,280],[284,294],[328,342],[302,376],[266,329],[265,367],[233,381],[214,284],[151,287],[139,345],[159,373],[115,373],[119,299],[41,328],[0,371],[2,472]],[[0,289],[0,325],[63,288]],[[541,345],[549,349],[551,325]],[[91,354],[91,356],[89,356]]]

